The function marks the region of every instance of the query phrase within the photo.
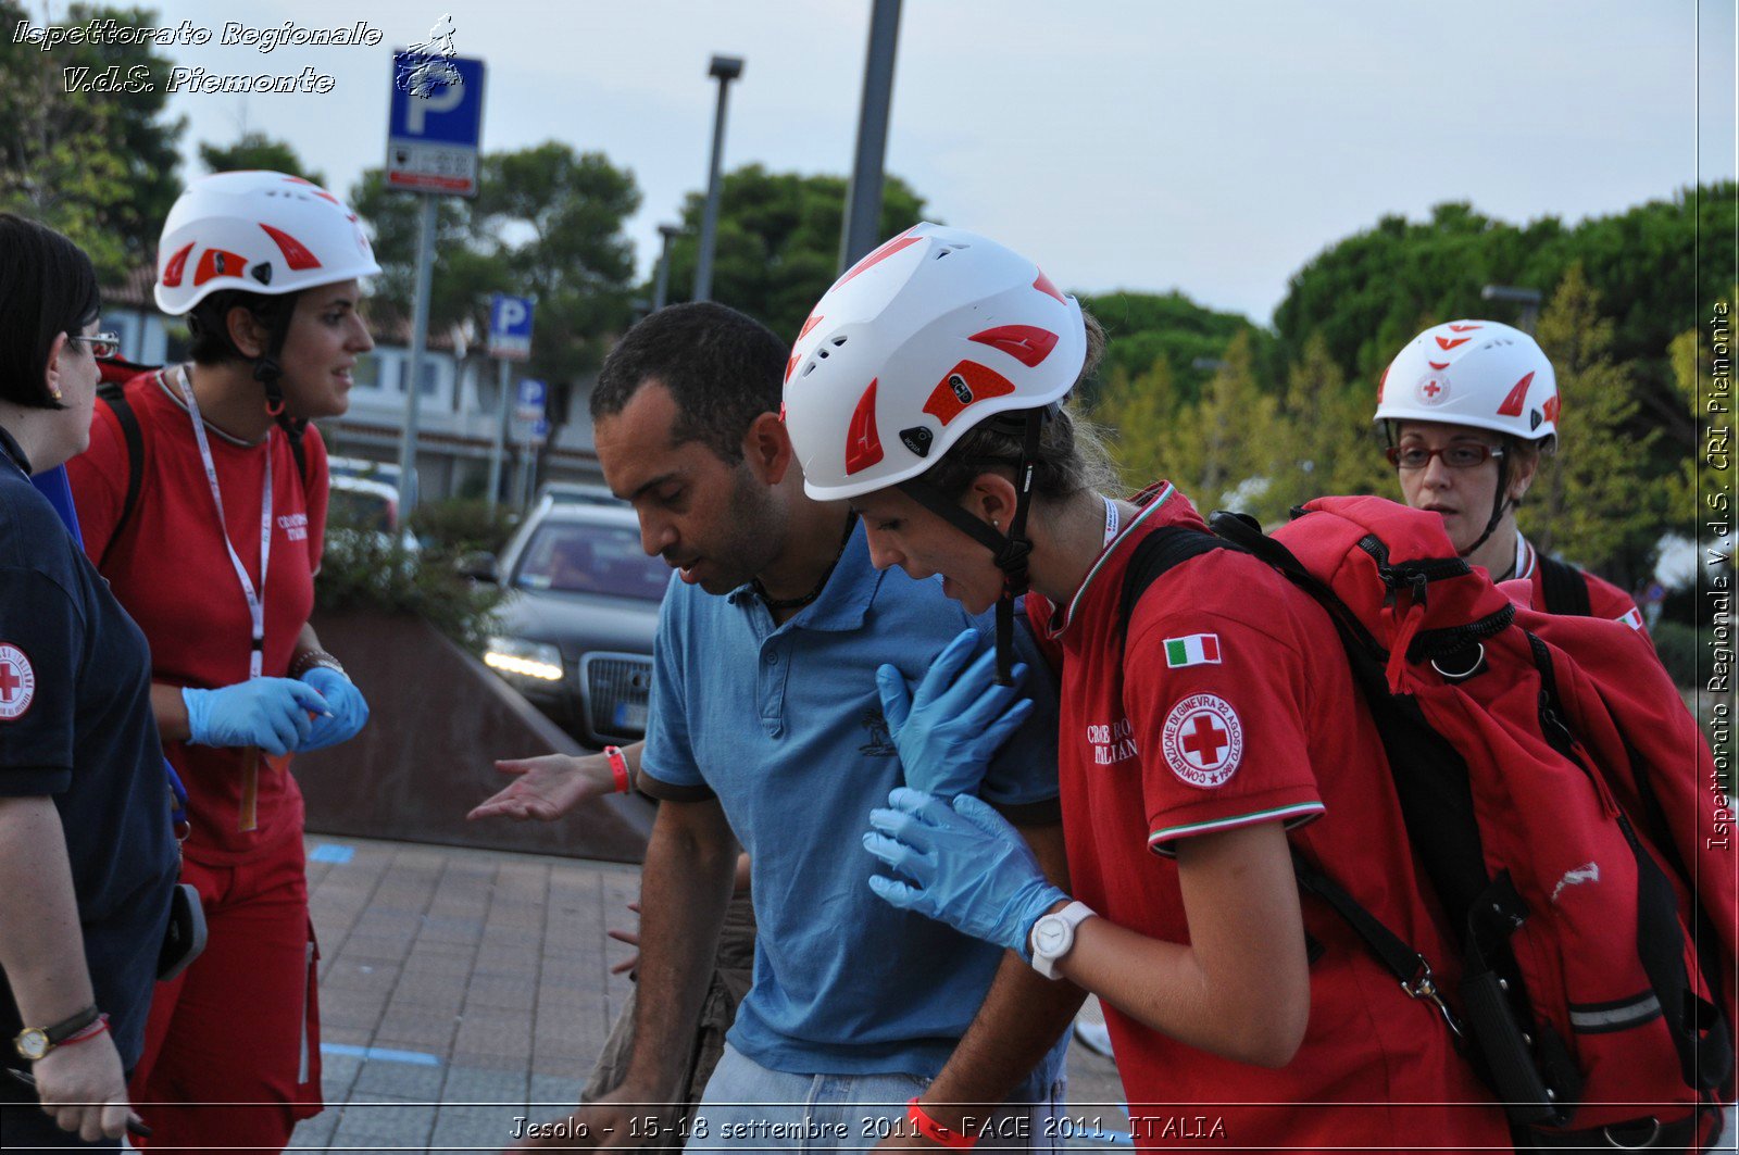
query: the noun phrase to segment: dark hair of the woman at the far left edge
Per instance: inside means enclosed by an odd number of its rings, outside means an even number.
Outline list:
[[[63,332],[97,318],[97,273],[83,249],[52,228],[0,212],[0,398],[30,409],[64,409],[43,376]]]

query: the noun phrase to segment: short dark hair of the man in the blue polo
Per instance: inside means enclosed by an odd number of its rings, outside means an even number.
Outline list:
[[[603,358],[591,419],[614,417],[642,384],[657,381],[676,402],[676,444],[701,442],[736,464],[755,417],[779,412],[788,353],[753,317],[711,301],[671,304],[630,329]]]

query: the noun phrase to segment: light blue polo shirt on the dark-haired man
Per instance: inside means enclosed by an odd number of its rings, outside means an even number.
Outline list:
[[[995,638],[995,616],[969,616],[939,578],[876,572],[863,525],[821,597],[779,626],[751,586],[713,597],[671,581],[642,788],[716,797],[750,854],[755,985],[729,1038],[762,1066],[932,1077],[984,1002],[1002,948],[883,903],[861,844],[904,778],[876,666],[915,682],[967,626]],[[1038,708],[977,793],[1016,821],[1057,821],[1057,692],[1024,619],[1017,637]]]

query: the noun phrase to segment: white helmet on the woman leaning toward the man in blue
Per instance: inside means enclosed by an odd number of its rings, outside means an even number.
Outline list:
[[[1075,388],[1087,330],[1036,264],[922,223],[840,277],[784,371],[784,421],[803,489],[838,501],[916,478],[1002,412]]]

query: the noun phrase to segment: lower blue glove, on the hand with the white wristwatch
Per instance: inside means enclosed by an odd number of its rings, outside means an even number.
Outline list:
[[[1031,962],[1033,924],[1069,896],[1045,880],[1026,838],[972,795],[949,807],[899,786],[887,804],[870,811],[864,849],[913,882],[871,875],[870,889]]]

